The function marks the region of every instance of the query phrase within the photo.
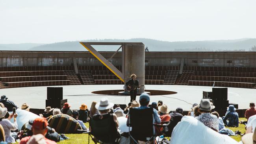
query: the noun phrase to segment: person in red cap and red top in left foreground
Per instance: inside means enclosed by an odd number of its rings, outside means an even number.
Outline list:
[[[47,129],[48,122],[45,118],[36,118],[32,125],[32,133],[33,135],[42,134],[45,138],[45,135],[48,131]],[[24,137],[20,140],[19,144],[27,144],[27,142],[32,138],[31,136]],[[57,144],[56,142],[49,140],[48,138],[45,138],[46,144]]]

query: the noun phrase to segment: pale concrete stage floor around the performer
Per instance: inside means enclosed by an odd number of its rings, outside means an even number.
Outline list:
[[[82,103],[91,107],[91,102],[99,102],[102,97],[108,97],[110,102],[119,104],[128,104],[130,96],[109,96],[92,94],[97,90],[123,89],[123,85],[68,85],[56,86],[63,87],[63,99],[68,99],[72,109],[79,109]],[[151,102],[162,100],[167,104],[169,110],[175,110],[176,107],[182,107],[184,110],[190,110],[191,104],[199,103],[202,98],[202,91],[211,91],[212,87],[186,86],[186,85],[146,85],[149,90],[170,90],[178,92],[172,95],[150,96]],[[256,102],[256,89],[228,88],[228,100],[230,103],[238,103],[239,109],[248,109],[250,102]],[[22,87],[1,89],[1,95],[6,95],[18,107],[22,103],[28,103],[32,108],[45,109],[46,87]],[[178,99],[180,100],[178,100]],[[139,101],[139,96],[136,98]],[[184,102],[184,101],[188,102]]]

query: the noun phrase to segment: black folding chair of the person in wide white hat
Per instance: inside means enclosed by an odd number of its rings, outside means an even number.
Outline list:
[[[103,119],[103,120],[94,120],[90,119],[89,122],[89,135],[88,135],[88,143],[90,143],[90,137],[93,139],[95,144],[116,144],[117,143],[117,130],[112,131],[111,129],[115,129],[115,126],[111,125],[113,123],[112,117]],[[93,137],[92,137],[93,136]]]

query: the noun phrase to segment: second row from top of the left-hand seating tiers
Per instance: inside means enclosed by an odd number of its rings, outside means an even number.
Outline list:
[[[0,77],[9,76],[55,76],[64,75],[63,70],[0,72]]]

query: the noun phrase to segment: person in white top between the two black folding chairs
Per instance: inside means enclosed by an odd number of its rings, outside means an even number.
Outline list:
[[[129,127],[126,126],[126,122],[127,122],[126,114],[124,114],[121,109],[115,111],[115,114],[117,115],[117,121],[119,123],[120,133],[128,133]],[[132,129],[132,127],[130,129]]]

